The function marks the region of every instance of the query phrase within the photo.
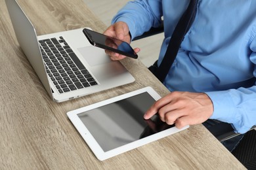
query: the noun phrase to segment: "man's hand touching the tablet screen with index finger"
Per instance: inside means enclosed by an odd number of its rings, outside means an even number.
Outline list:
[[[205,122],[213,114],[213,103],[205,93],[171,92],[156,101],[144,118],[149,119],[157,112],[163,122],[182,128]]]

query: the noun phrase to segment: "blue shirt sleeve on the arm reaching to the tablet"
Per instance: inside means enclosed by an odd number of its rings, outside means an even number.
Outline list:
[[[250,61],[255,65],[253,71],[256,77],[256,38],[249,45]],[[234,75],[235,76],[235,75]],[[222,92],[206,92],[213,102],[212,119],[232,124],[235,131],[245,133],[256,125],[256,86],[231,89]]]

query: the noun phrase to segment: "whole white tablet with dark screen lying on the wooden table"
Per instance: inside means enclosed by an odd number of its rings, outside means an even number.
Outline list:
[[[160,95],[146,87],[68,112],[68,118],[98,160],[106,160],[167,135],[177,129],[155,115],[144,120],[146,110]]]

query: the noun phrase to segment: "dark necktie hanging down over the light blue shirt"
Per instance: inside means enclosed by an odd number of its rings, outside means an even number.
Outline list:
[[[188,8],[185,10],[184,14],[182,14],[181,19],[173,31],[173,35],[171,36],[169,45],[165,52],[165,56],[163,57],[163,60],[161,61],[161,64],[156,72],[156,77],[161,82],[165,80],[165,77],[169,73],[169,69],[171,68],[173,61],[179,52],[179,48],[181,46],[182,40],[184,39],[184,35],[187,33],[188,29],[194,22],[197,3],[198,0],[190,0]]]

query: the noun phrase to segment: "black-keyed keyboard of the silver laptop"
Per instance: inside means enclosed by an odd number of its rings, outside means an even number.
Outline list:
[[[59,93],[97,84],[63,37],[40,40],[39,44],[47,74]]]

